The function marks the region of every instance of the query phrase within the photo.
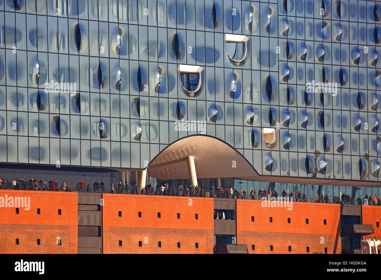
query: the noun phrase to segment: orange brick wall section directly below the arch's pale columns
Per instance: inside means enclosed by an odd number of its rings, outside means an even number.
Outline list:
[[[213,199],[119,194],[103,198],[104,253],[213,253]]]

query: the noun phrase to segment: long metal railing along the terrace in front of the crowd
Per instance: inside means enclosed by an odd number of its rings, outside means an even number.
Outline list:
[[[229,199],[248,199],[248,200],[286,200],[289,202],[312,202],[312,203],[336,203],[336,204],[352,204],[352,205],[364,205],[365,198],[360,197],[339,197],[339,196],[323,196],[323,195],[301,195],[301,197],[295,194],[291,197],[290,194],[267,194],[267,197],[263,195],[259,196],[258,193],[251,195],[247,192],[246,195],[241,195],[239,191],[230,190],[208,190],[205,189],[179,189],[168,188],[162,190],[161,187],[145,187],[139,190],[139,187],[134,186],[112,186],[112,185],[94,185],[86,184],[80,186],[80,184],[66,184],[66,188],[62,184],[52,183],[38,183],[35,182],[2,182],[0,189],[11,190],[36,190],[36,191],[67,191],[67,192],[88,192],[88,193],[106,193],[106,194],[135,194],[135,195],[162,195],[162,196],[182,196],[182,197],[205,197],[205,198],[229,198]],[[368,198],[367,205],[375,205],[373,198]],[[376,205],[381,205],[380,200]]]

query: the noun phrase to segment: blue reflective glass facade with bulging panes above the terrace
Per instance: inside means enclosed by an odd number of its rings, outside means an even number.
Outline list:
[[[355,0],[0,0],[0,162],[145,168],[202,133],[176,130],[186,120],[260,175],[379,181],[380,14]]]

